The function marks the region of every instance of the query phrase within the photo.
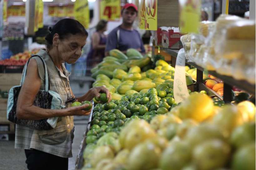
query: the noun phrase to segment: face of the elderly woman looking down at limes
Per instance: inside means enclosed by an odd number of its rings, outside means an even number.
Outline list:
[[[62,62],[74,64],[81,56],[87,36],[76,34],[57,41],[58,55]]]

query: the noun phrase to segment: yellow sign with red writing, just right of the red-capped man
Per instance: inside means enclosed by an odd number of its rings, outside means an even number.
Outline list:
[[[139,0],[140,29],[157,30],[157,0]]]

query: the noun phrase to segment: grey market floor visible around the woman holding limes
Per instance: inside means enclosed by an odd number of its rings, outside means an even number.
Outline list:
[[[89,85],[80,87],[78,83],[71,82],[71,88],[76,96],[81,96],[88,91]],[[86,129],[88,116],[75,116],[75,138],[72,144],[73,158],[69,159],[69,170],[75,169],[76,156]],[[0,169],[1,170],[25,170],[27,164],[23,149],[14,149],[14,141],[0,140]]]

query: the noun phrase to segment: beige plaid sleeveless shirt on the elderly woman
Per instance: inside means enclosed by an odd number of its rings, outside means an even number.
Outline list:
[[[50,90],[60,94],[62,105],[65,105],[67,100],[68,83],[70,73],[66,70],[64,63],[62,64],[62,73],[52,62],[51,58],[45,50],[40,50],[37,55],[40,55],[46,65],[49,76]],[[41,78],[41,87],[44,89],[44,68],[42,61],[35,57],[38,65],[38,72]],[[56,70],[56,68],[58,70]],[[59,76],[60,75],[60,76]],[[65,86],[63,85],[64,82]],[[68,92],[69,94],[69,92]],[[72,157],[72,140],[74,138],[74,122],[73,116],[59,117],[57,126],[52,130],[34,130],[22,125],[16,125],[15,133],[15,148],[18,149],[37,149],[43,152],[51,153],[63,158]]]

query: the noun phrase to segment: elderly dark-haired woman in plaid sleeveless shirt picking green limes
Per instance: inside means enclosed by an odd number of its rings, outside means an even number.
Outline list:
[[[64,63],[74,64],[81,55],[86,44],[88,33],[76,20],[63,19],[49,28],[50,33],[45,37],[47,49],[40,50],[40,55],[47,65],[50,90],[60,94],[62,105],[65,101],[74,101],[75,96],[69,86],[68,76]],[[40,169],[68,169],[68,158],[72,157],[72,140],[74,138],[73,116],[88,115],[84,111],[88,105],[68,107],[61,110],[43,109],[33,106],[33,101],[39,92],[44,89],[44,68],[38,57],[30,60],[27,66],[27,75],[22,84],[17,101],[17,118],[40,120],[59,117],[57,126],[52,130],[35,130],[22,125],[16,125],[15,148],[25,149],[26,163],[29,170]],[[106,93],[111,100],[109,91],[105,87],[91,88],[82,97],[76,100],[91,101],[100,92]]]

